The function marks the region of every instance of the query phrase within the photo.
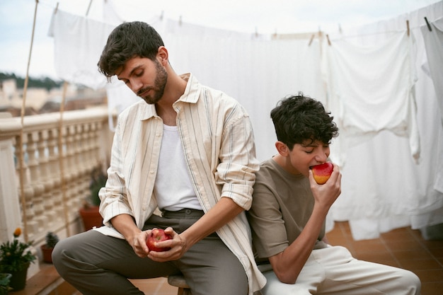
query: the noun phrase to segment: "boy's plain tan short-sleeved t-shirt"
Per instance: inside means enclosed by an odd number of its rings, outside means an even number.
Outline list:
[[[255,175],[248,221],[256,255],[269,258],[282,252],[299,236],[311,216],[314,199],[308,178],[287,173],[272,158],[261,163]],[[324,235],[323,223],[318,241]],[[316,243],[314,248],[325,245]]]

